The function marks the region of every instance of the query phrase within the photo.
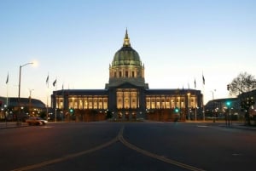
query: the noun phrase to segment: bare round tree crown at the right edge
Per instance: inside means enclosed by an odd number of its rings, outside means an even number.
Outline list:
[[[241,72],[236,78],[228,85],[230,88],[230,94],[239,95],[242,93],[247,93],[256,88],[256,79],[253,75],[247,72]]]

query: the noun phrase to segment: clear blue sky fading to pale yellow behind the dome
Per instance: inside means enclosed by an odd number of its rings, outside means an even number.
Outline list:
[[[0,96],[18,97],[20,66],[20,97],[45,104],[62,86],[105,88],[127,28],[149,88],[228,98],[240,72],[256,74],[255,9],[254,0],[0,0]]]

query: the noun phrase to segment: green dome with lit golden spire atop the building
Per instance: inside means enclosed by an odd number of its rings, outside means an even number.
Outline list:
[[[131,48],[130,39],[126,30],[123,47],[113,56],[112,66],[141,66],[137,51]]]

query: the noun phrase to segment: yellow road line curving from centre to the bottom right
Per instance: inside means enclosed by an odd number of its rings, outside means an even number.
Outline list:
[[[176,165],[180,168],[186,168],[188,170],[192,170],[192,171],[203,171],[203,169],[201,168],[195,168],[193,166],[190,166],[188,164],[184,164],[182,162],[177,162],[175,160],[172,160],[170,158],[167,158],[167,157],[163,157],[163,156],[159,156],[157,154],[154,154],[152,152],[149,152],[149,151],[145,151],[139,147],[137,147],[136,145],[132,145],[131,143],[127,142],[124,137],[123,137],[123,132],[124,132],[124,126],[121,128],[121,130],[119,131],[119,135],[118,135],[118,138],[119,138],[119,141],[121,141],[125,146],[131,148],[132,150],[134,151],[137,151],[139,153],[142,153],[143,155],[145,156],[148,156],[148,157],[153,157],[155,159],[158,159],[162,162],[166,162],[166,163],[169,163],[169,164],[173,164],[173,165]]]

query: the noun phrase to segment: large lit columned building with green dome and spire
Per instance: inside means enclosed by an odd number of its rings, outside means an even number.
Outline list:
[[[104,89],[56,90],[51,100],[53,108],[65,113],[65,119],[73,109],[79,121],[103,120],[106,115],[117,120],[185,120],[197,117],[202,107],[200,90],[148,88],[143,62],[131,48],[127,30],[123,46],[109,65],[109,81]]]

